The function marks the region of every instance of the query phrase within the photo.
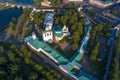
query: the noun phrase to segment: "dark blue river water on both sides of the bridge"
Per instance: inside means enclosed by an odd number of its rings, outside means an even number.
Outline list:
[[[7,2],[9,0],[4,0],[4,1]],[[23,3],[23,4],[24,3],[32,4],[34,0],[11,0],[11,1]],[[22,14],[22,10],[20,9],[7,9],[0,11],[0,30],[5,28],[9,24],[9,22],[13,17],[17,19],[21,14]]]

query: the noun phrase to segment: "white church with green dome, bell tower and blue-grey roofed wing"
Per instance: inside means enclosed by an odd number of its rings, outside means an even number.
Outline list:
[[[46,13],[44,19],[44,29],[42,31],[42,37],[45,42],[59,41],[65,36],[69,36],[68,28],[64,26],[53,26],[53,13]]]

